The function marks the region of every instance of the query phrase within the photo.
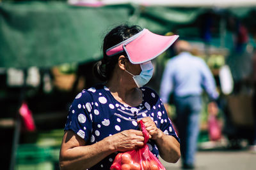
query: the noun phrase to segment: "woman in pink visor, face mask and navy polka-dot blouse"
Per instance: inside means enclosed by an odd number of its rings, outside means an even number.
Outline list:
[[[179,160],[179,138],[163,103],[154,90],[141,87],[152,76],[150,60],[175,39],[127,25],[106,35],[104,57],[94,69],[106,83],[83,90],[70,106],[61,144],[61,169],[109,169],[118,152],[143,146],[140,119],[150,134],[151,152],[167,162]]]

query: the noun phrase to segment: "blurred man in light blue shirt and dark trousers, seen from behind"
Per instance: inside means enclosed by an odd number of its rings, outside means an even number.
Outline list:
[[[175,50],[178,55],[168,60],[164,69],[160,96],[165,106],[172,96],[177,113],[182,168],[193,169],[200,129],[201,95],[203,90],[207,92],[212,101],[209,108],[214,110],[218,92],[209,67],[204,60],[191,55],[191,45],[187,41],[177,41]]]

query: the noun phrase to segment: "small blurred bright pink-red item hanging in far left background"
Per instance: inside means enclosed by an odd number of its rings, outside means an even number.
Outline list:
[[[20,116],[22,117],[24,127],[27,131],[35,131],[35,123],[32,117],[32,112],[28,108],[28,104],[23,102],[19,109]]]

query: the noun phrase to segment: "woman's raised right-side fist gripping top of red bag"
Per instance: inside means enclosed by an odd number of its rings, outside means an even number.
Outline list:
[[[153,122],[153,120],[150,117],[145,117],[145,118],[142,118],[141,120],[148,131],[150,139],[157,139],[163,136],[163,132],[156,127],[155,122]]]

